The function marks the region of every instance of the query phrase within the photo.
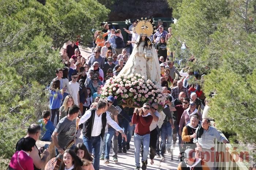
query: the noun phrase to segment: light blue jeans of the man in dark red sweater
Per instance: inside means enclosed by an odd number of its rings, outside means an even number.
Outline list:
[[[143,143],[143,157],[142,161],[147,161],[150,134],[138,135],[134,133],[134,156],[135,156],[135,166],[140,166],[140,145]]]

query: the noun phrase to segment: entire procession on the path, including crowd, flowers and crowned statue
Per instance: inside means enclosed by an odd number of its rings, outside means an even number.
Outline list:
[[[23,129],[7,170],[248,170],[248,148],[234,154],[210,111],[218,94],[203,88],[209,72],[185,39],[173,44],[173,25],[104,22],[91,48],[77,34],[63,41],[47,73],[48,106]]]

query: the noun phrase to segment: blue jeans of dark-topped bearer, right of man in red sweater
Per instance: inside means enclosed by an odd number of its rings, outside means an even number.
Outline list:
[[[170,122],[167,122],[166,124],[163,124],[161,127],[161,146],[160,146],[160,155],[164,155],[165,153],[165,145],[167,149],[171,147],[172,143],[172,127]],[[166,143],[166,137],[167,137],[167,143]]]

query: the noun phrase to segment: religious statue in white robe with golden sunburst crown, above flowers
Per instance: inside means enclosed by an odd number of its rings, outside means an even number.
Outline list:
[[[153,33],[153,26],[150,20],[142,20],[138,22],[135,29],[139,36],[135,41],[132,54],[120,74],[138,73],[144,76],[146,80],[150,79],[157,87],[161,88],[161,71],[157,52],[149,38]]]

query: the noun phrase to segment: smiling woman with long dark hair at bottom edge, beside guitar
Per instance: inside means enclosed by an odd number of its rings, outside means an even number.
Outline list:
[[[82,161],[73,150],[67,149],[64,151],[60,170],[82,170],[82,166]]]

